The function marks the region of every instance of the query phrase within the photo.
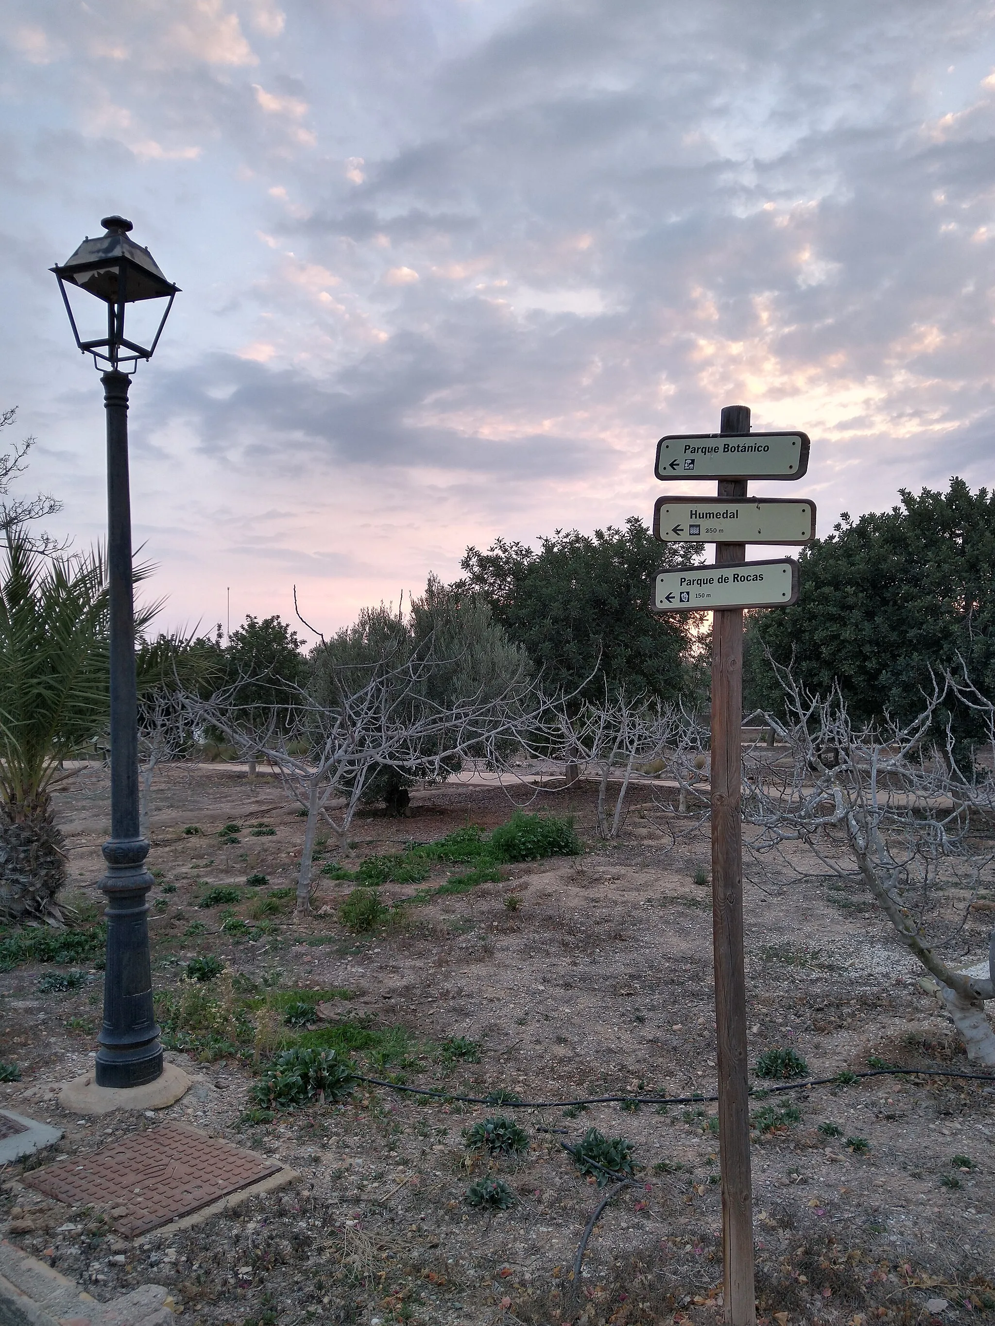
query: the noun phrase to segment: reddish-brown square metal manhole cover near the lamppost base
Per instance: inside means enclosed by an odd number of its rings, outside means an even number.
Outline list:
[[[131,1238],[280,1170],[281,1164],[253,1151],[182,1123],[163,1123],[90,1156],[33,1170],[21,1181],[70,1207],[113,1209],[114,1228]]]

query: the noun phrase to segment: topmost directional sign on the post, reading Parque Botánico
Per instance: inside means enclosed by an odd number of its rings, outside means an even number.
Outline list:
[[[657,479],[800,479],[804,432],[673,434],[657,443]]]

